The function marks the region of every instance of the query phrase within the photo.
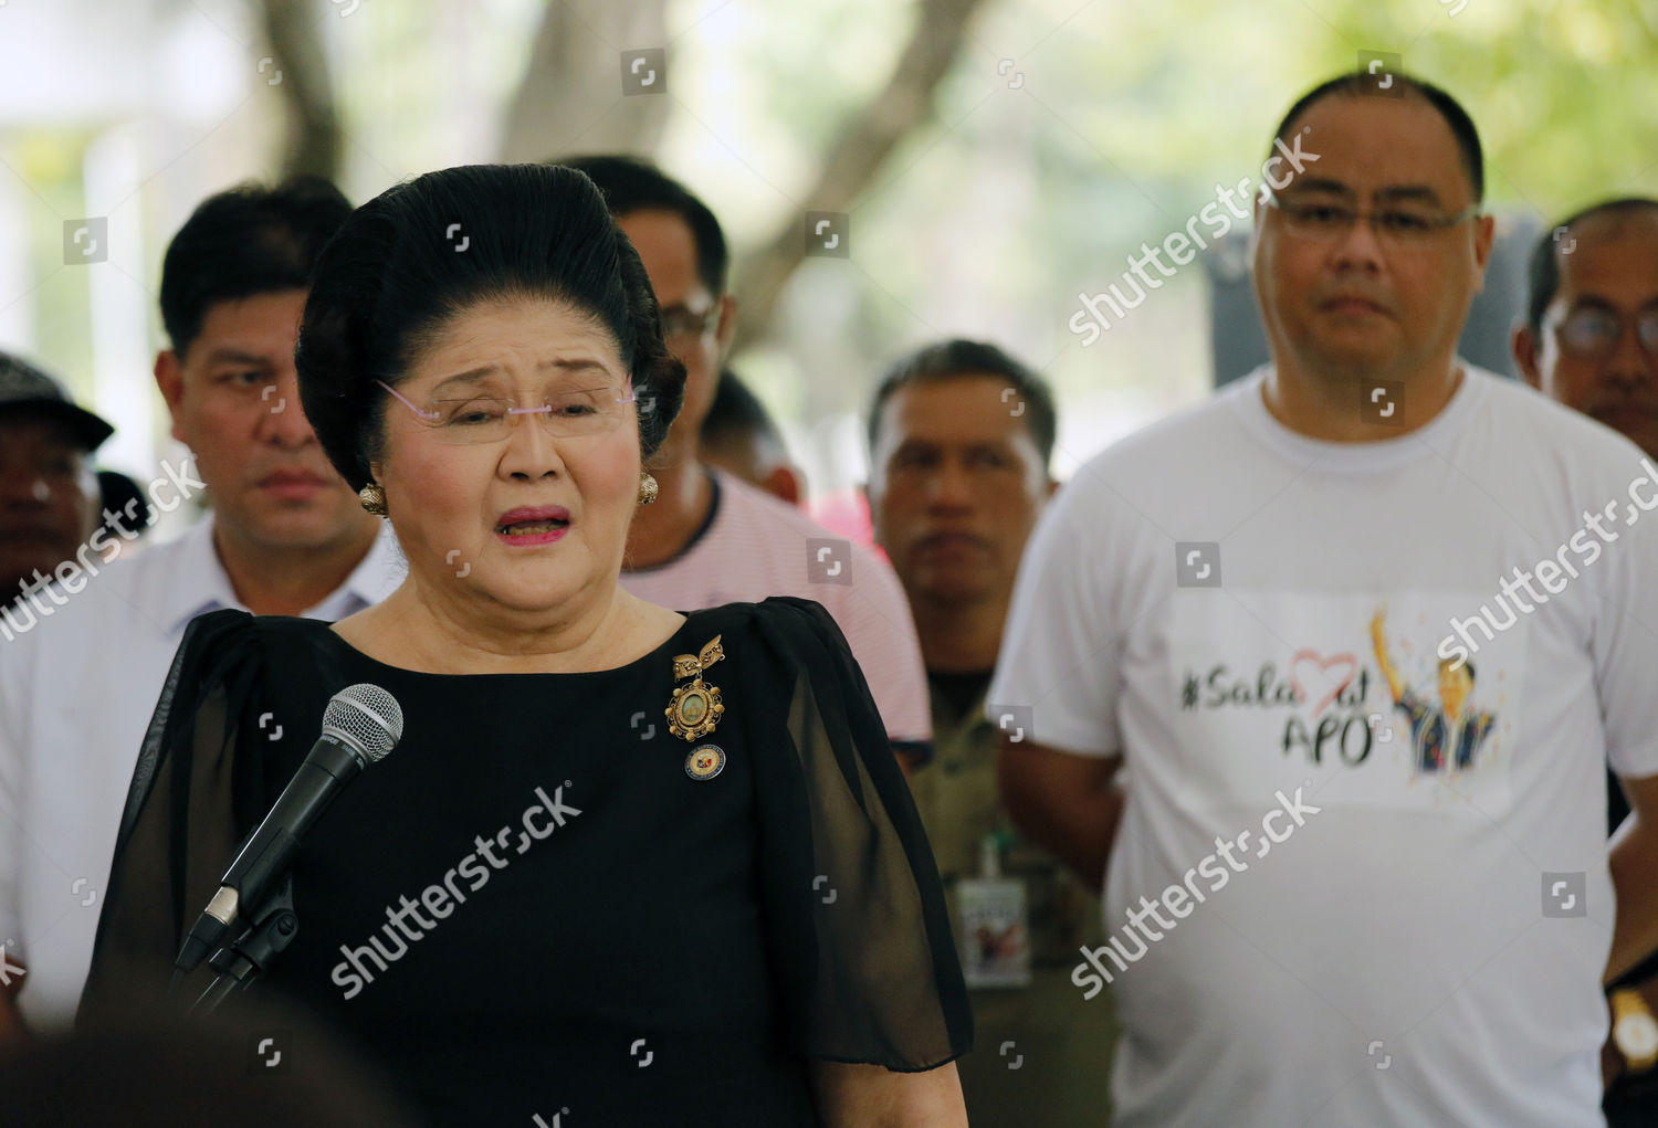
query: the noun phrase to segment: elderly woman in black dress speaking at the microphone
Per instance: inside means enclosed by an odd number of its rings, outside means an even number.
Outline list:
[[[479,166],[365,204],[297,361],[408,578],[332,626],[191,624],[83,1020],[153,991],[330,697],[371,682],[401,744],[298,843],[298,929],[252,994],[433,1125],[965,1125],[938,875],[834,621],[617,586],[685,369],[594,186]]]

